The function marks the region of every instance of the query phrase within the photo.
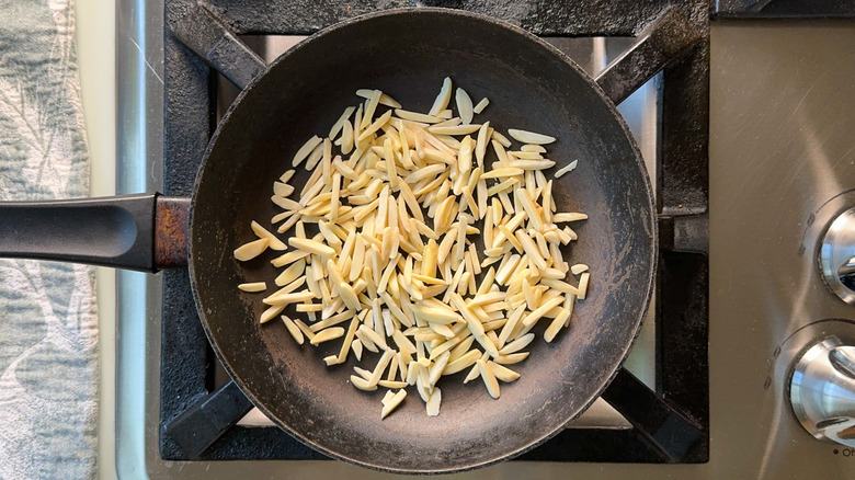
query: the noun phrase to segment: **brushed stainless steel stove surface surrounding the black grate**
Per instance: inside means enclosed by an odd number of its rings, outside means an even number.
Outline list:
[[[163,26],[157,21],[163,18],[163,4],[121,2],[119,8],[124,9],[119,58],[126,62],[126,68],[119,68],[119,193],[159,191],[164,186],[159,174],[163,169],[160,79],[170,82],[160,50]],[[656,10],[647,13],[656,16]],[[132,19],[133,23],[123,23]],[[855,205],[847,194],[855,186],[851,115],[855,99],[847,94],[855,87],[855,30],[846,21],[721,20],[713,22],[710,38],[708,461],[627,465],[641,460],[629,453],[622,459],[619,452],[612,452],[604,455],[605,462],[512,461],[460,477],[855,478],[848,473],[854,450],[811,437],[788,400],[789,369],[807,346],[828,333],[855,338],[851,323],[829,320],[853,320],[855,310],[825,288],[816,259],[819,239],[834,214]],[[597,42],[604,41],[590,45]],[[570,44],[565,47],[572,48]],[[167,48],[167,56],[183,55],[172,48]],[[600,57],[588,61],[602,67]],[[660,102],[669,101],[669,90],[662,90],[660,81],[624,105],[634,133],[641,136],[646,158],[653,158],[651,167],[661,139],[674,135],[662,132],[661,119],[656,119]],[[636,108],[630,107],[632,102]],[[650,112],[652,123],[632,125],[632,115],[640,118]],[[206,139],[195,141],[204,145]],[[195,170],[168,173],[193,175]],[[691,206],[692,198],[685,206],[674,205],[676,209]],[[182,282],[181,273],[170,275],[168,290],[170,283]],[[121,273],[118,284],[119,477],[380,477],[333,460],[163,460],[161,347],[162,342],[174,342],[168,334],[184,333],[162,332],[161,318],[170,309],[192,310],[193,306],[168,302],[164,313],[162,274]],[[656,388],[658,375],[669,365],[652,363],[658,342],[652,330],[636,348],[630,369]],[[703,363],[697,368],[698,375],[706,375]],[[194,375],[205,377],[209,372]],[[594,424],[629,432],[619,415],[606,415]]]

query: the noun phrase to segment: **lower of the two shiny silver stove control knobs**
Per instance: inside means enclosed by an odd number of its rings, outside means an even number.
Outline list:
[[[829,336],[808,348],[793,370],[789,400],[808,433],[855,447],[855,346]]]

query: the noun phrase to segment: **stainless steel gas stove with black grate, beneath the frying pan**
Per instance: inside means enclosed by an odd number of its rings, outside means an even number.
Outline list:
[[[835,57],[852,57],[843,46],[855,35],[845,21],[745,20],[818,12],[739,1],[714,8],[614,1],[595,10],[584,2],[486,0],[274,1],[263,9],[235,0],[121,1],[118,193],[190,195],[236,84],[339,20],[428,3],[517,23],[593,77],[613,75],[611,88],[628,95],[619,110],[654,180],[660,214],[657,294],[625,369],[555,438],[465,476],[841,477],[852,450],[802,428],[789,407],[789,378],[816,341],[855,338],[846,320],[855,318],[852,307],[825,287],[814,258],[843,205],[855,204],[847,196],[855,185],[855,144],[846,129],[852,110],[845,108],[855,105],[834,95],[852,85],[855,70]],[[711,11],[720,20],[710,35]],[[778,37],[785,32],[802,39],[797,52],[803,57],[793,52],[790,37]],[[679,56],[665,65],[674,49]],[[793,71],[803,58],[811,65],[834,58],[834,68],[821,69],[824,77]],[[821,78],[827,80],[816,80]],[[777,100],[774,108],[770,95]],[[785,233],[796,236],[788,242]],[[122,272],[117,284],[119,476],[378,475],[327,459],[250,410],[207,346],[186,271]],[[803,372],[808,378],[812,370]],[[241,420],[233,425],[231,419]],[[802,450],[790,443],[803,444]],[[777,458],[803,450],[822,465],[808,469]]]

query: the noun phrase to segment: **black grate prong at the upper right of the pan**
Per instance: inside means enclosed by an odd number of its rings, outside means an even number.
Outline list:
[[[676,9],[669,9],[651,22],[638,35],[636,43],[594,81],[617,105],[703,37],[698,25]]]

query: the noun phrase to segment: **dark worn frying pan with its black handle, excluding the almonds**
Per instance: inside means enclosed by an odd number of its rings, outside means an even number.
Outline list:
[[[347,384],[352,356],[345,365],[324,366],[322,358],[338,352],[335,342],[299,347],[283,324],[258,323],[264,307],[259,294],[241,293],[237,285],[273,284],[274,253],[240,263],[231,251],[254,238],[251,220],[266,224],[277,213],[270,202],[273,181],[290,168],[306,139],[326,135],[342,110],[358,101],[355,90],[380,89],[406,108],[428,111],[446,76],[476,101],[490,99],[483,117],[495,128],[548,133],[558,138],[549,148],[558,167],[579,160],[575,171],[555,182],[554,196],[559,210],[589,215],[578,226],[579,240],[563,253],[571,263],[591,266],[592,284],[570,328],[552,344],[533,344],[529,358],[514,366],[522,378],[503,385],[499,400],[481,385],[461,385],[457,375],[443,380],[438,416],[426,416],[418,396],[410,395],[380,421],[381,392]],[[308,174],[299,169],[292,183],[301,186]],[[181,263],[186,199],[183,206],[159,201],[157,207],[151,196],[9,204],[0,212],[0,253],[142,270]],[[345,21],[270,65],[214,134],[189,212],[187,264],[198,313],[241,390],[307,445],[396,472],[486,466],[533,448],[579,416],[613,378],[638,333],[657,258],[650,183],[602,90],[534,35],[442,9]]]

